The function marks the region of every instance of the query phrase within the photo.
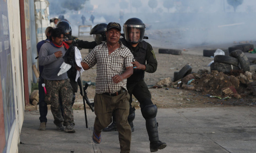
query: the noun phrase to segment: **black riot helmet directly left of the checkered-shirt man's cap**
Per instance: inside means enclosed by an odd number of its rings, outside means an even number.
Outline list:
[[[99,23],[94,26],[90,32],[90,35],[93,35],[94,40],[99,45],[102,41],[106,41],[106,31],[107,31],[107,24],[106,23]]]

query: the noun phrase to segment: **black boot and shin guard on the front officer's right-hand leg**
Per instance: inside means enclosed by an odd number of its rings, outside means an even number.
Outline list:
[[[150,141],[150,152],[156,152],[158,149],[164,149],[166,143],[161,142],[158,137],[158,127],[156,118],[146,119],[146,128]]]

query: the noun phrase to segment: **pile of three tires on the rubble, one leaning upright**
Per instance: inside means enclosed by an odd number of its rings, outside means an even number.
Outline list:
[[[247,56],[241,50],[231,51],[230,56],[216,55],[214,63],[211,64],[211,71],[217,70],[230,73],[231,70],[250,71],[250,63]]]

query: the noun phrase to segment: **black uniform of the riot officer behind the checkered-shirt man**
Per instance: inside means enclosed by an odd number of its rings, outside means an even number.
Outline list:
[[[139,101],[140,107],[144,108],[147,105],[153,104],[148,86],[144,82],[144,74],[145,71],[148,73],[154,73],[157,70],[155,52],[152,46],[145,41],[139,42],[136,47],[132,47],[131,45],[127,44],[124,38],[122,38],[121,41],[131,50],[136,61],[138,61],[140,64],[146,65],[145,70],[134,69],[133,74],[127,78],[127,89],[130,96],[133,94],[134,97]],[[132,102],[132,97],[130,98],[129,102]]]

